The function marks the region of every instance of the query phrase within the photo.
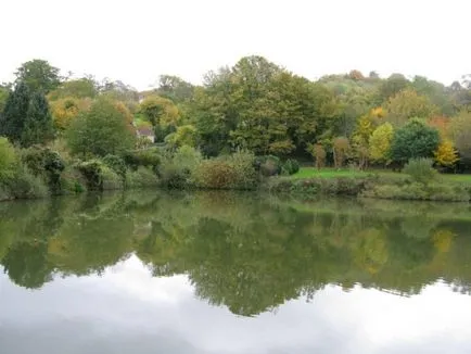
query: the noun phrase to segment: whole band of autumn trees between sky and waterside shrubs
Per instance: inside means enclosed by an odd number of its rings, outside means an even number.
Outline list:
[[[204,76],[163,75],[138,91],[92,76],[61,77],[43,60],[0,87],[0,135],[24,148],[65,139],[71,153],[104,156],[157,143],[205,156],[249,150],[313,159],[318,167],[399,165],[415,157],[471,167],[471,76],[450,86],[353,69],[309,80],[262,56]]]

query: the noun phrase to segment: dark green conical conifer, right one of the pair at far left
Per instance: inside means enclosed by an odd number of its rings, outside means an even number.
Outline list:
[[[42,92],[33,94],[26,114],[26,123],[21,137],[23,147],[44,143],[53,138],[52,116],[49,104]]]

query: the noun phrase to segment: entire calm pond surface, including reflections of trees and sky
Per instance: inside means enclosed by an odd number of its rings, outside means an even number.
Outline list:
[[[0,353],[470,353],[467,204],[0,203]]]

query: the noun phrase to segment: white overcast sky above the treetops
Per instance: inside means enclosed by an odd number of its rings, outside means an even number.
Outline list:
[[[471,73],[469,0],[2,0],[0,81],[44,59],[147,89],[263,55],[316,79],[353,68],[449,85]]]

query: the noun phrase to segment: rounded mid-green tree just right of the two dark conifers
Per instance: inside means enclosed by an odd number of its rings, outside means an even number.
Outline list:
[[[84,156],[118,154],[133,147],[135,136],[128,125],[115,102],[100,98],[72,122],[67,143],[72,153]]]

